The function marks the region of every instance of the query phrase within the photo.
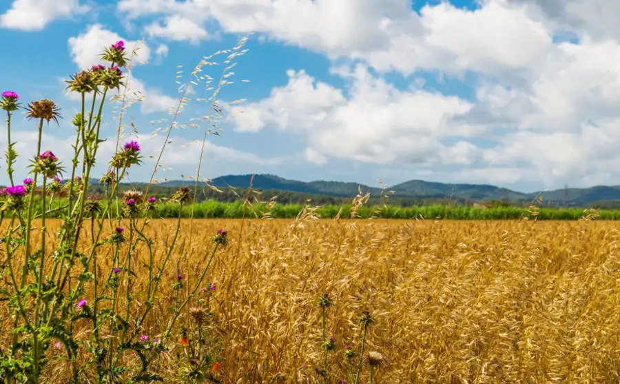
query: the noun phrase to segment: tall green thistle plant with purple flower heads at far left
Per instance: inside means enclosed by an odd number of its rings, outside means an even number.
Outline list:
[[[43,382],[46,367],[59,359],[68,362],[71,383],[163,381],[152,365],[174,343],[178,319],[188,308],[195,324],[184,340],[195,339],[197,343],[192,345],[203,348],[192,350],[189,358],[201,369],[218,363],[216,354],[204,349],[211,316],[209,301],[197,301],[197,297],[204,293],[198,290],[218,250],[229,243],[228,232],[218,230],[213,235],[211,253],[196,281],[185,283],[178,272],[177,283],[180,287],[187,284],[187,292],[178,290],[183,296],[179,296],[172,316],[162,323],[161,334],[149,334],[145,323],[152,321],[160,284],[170,272],[181,212],[191,203],[192,191],[180,188],[170,196],[179,214],[164,241],[161,259],[154,257],[156,239],[145,230],[152,225],[158,199],[138,190],[118,192],[132,165],[142,163],[138,141],[117,146],[101,176],[105,194],[91,193],[94,165],[105,141],[101,127],[106,97],[123,87],[126,92],[131,64],[123,41],[105,48],[101,59],[105,65],[81,70],[67,81],[68,92],[78,94],[81,100],[80,111],[71,120],[76,134],[71,156],[43,148],[44,123],[63,119],[54,101],[41,99],[22,107],[16,92],[1,94],[0,108],[7,113],[10,185],[0,190],[0,221],[8,221],[0,237],[6,256],[1,263],[6,265],[9,284],[0,290],[0,299],[12,314],[10,345],[0,349],[0,380],[4,383]],[[11,119],[20,109],[28,120],[36,122],[38,141],[28,178],[15,184],[18,154],[11,141]],[[63,181],[65,170],[68,179]],[[52,201],[57,201],[55,207]],[[52,216],[62,222],[56,236],[48,235],[47,219]],[[148,274],[146,286],[139,291],[134,284],[138,245],[147,250],[144,264]],[[128,358],[137,359],[139,365],[128,366]]]

